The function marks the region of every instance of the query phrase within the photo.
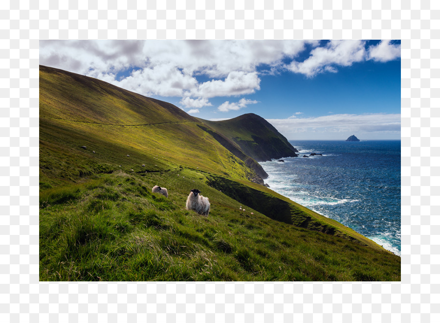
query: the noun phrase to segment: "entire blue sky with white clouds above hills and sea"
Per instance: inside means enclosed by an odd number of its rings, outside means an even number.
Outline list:
[[[41,40],[40,64],[289,140],[400,139],[396,40]]]

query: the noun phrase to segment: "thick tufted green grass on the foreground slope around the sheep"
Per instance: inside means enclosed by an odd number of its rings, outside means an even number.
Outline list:
[[[272,220],[206,184],[198,187],[210,198],[210,215],[185,210],[179,187],[192,187],[198,176],[120,171],[47,190],[40,280],[400,279],[396,255]],[[159,178],[170,184],[168,199],[151,193]]]

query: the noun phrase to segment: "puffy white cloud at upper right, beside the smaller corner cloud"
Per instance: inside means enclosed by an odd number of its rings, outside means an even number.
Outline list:
[[[359,40],[333,40],[325,47],[315,47],[303,62],[292,61],[287,69],[313,77],[324,71],[336,72],[336,66],[351,66],[365,59],[365,42]]]

